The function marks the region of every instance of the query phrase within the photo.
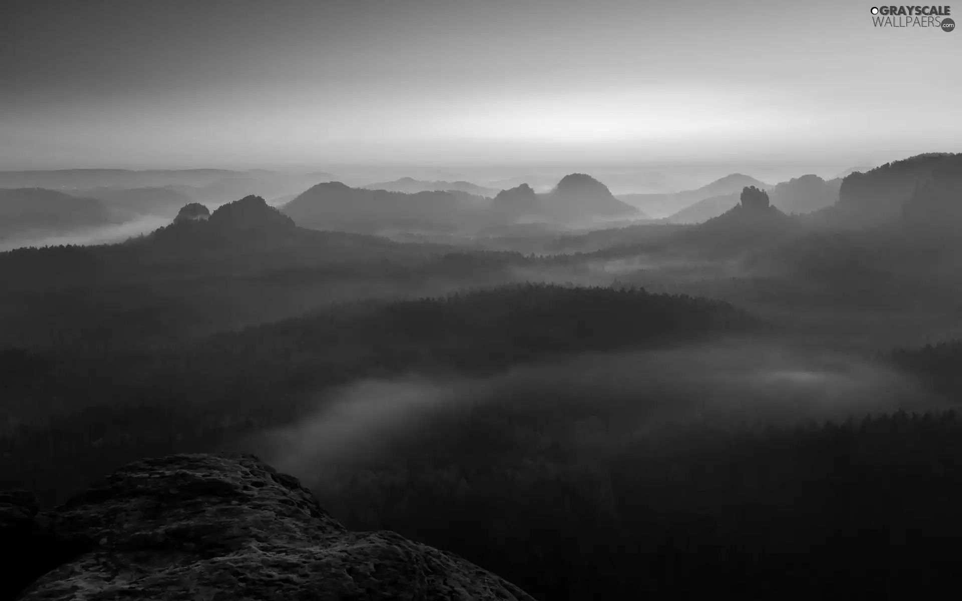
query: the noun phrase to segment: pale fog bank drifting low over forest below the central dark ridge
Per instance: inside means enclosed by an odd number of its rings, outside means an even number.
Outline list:
[[[366,379],[317,393],[312,413],[247,440],[246,448],[323,490],[343,469],[403,457],[407,445],[439,430],[457,436],[462,420],[496,407],[546,424],[545,434],[565,444],[605,451],[677,428],[784,426],[941,405],[911,378],[864,356],[732,338],[519,365],[484,379]]]

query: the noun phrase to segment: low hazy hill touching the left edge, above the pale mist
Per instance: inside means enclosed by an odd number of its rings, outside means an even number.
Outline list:
[[[116,221],[96,198],[44,188],[0,189],[0,238],[63,233]]]

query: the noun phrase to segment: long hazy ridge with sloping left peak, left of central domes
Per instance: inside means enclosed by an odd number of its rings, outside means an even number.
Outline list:
[[[408,194],[327,182],[303,192],[282,211],[302,227],[322,230],[450,229],[463,227],[479,202],[484,198],[456,190]]]

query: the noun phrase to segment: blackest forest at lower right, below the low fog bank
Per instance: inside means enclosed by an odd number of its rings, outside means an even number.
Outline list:
[[[317,492],[349,528],[448,549],[540,599],[874,599],[954,586],[957,413],[613,442],[585,409],[495,404],[439,419]]]

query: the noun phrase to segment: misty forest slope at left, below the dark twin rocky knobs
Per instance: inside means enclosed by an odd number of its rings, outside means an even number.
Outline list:
[[[0,295],[0,347],[176,344],[332,302],[503,284],[523,260],[306,230],[249,252],[155,242],[0,253],[0,279],[13,283]]]

